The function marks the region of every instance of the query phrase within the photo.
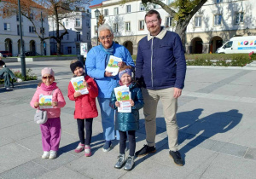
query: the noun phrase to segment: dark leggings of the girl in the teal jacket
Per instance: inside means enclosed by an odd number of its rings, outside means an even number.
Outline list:
[[[128,140],[129,140],[129,155],[134,156],[135,148],[136,148],[136,141],[135,141],[135,130],[129,130],[128,132]],[[127,140],[127,134],[126,131],[120,131],[119,130],[119,153],[125,154],[125,143]]]

